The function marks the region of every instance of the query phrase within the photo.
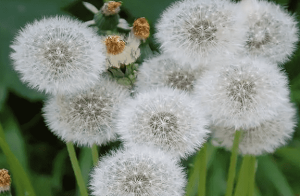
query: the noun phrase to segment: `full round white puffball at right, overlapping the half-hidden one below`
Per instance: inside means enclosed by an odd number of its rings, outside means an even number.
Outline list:
[[[216,125],[248,129],[277,115],[289,101],[288,79],[267,60],[236,57],[206,72],[195,84],[195,99]]]

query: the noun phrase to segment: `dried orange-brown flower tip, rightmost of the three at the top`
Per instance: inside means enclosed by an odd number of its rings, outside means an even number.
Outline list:
[[[146,18],[138,18],[134,21],[132,27],[133,33],[140,39],[147,39],[150,35],[150,25]]]

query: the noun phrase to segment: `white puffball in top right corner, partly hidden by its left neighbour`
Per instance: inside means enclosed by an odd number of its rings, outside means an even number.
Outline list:
[[[284,63],[298,41],[295,17],[273,2],[245,0],[240,6],[247,14],[246,52]]]

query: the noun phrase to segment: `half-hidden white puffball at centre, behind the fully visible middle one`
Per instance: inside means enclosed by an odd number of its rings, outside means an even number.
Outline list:
[[[139,92],[168,86],[190,93],[194,90],[194,83],[206,69],[200,65],[193,68],[190,64],[178,63],[171,56],[161,54],[146,60],[139,67],[136,88]]]

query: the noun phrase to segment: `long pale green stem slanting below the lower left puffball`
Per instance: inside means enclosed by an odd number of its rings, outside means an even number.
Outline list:
[[[80,194],[81,196],[88,196],[87,189],[85,187],[79,163],[76,157],[75,148],[72,142],[67,143],[67,149],[72,163],[73,171],[75,173],[76,181],[79,186]]]

